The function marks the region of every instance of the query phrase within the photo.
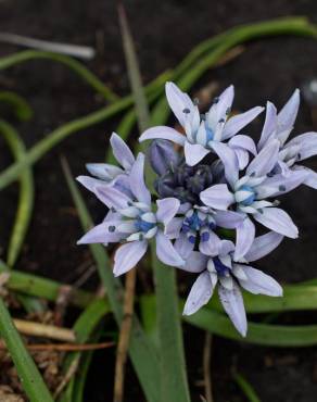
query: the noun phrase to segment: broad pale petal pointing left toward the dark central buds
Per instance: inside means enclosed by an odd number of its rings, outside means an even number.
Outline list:
[[[215,210],[226,211],[234,202],[233,194],[227,185],[215,185],[200,193],[202,202]]]

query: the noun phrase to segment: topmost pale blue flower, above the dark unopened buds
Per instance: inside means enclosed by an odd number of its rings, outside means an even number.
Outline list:
[[[166,84],[166,97],[170,109],[183,127],[186,136],[166,126],[152,127],[145,130],[140,141],[148,139],[167,139],[183,147],[186,163],[198,164],[210,152],[217,153],[217,145],[228,141],[227,146],[237,153],[240,168],[245,167],[249,152],[255,153],[253,140],[244,135],[237,135],[252,122],[264,108],[256,106],[242,114],[229,117],[233,101],[233,86],[228,87],[204,115],[200,115],[198,105],[175,84]],[[238,137],[233,139],[234,137]]]

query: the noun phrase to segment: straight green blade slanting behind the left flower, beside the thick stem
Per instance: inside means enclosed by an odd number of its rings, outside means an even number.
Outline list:
[[[81,226],[84,230],[88,230],[88,228],[92,226],[91,217],[80,192],[72,178],[69,169],[67,165],[65,165],[65,162],[63,165],[66,181],[75,206],[78,211]],[[101,281],[105,287],[111,310],[117,325],[121,326],[123,321],[123,309],[121,304],[123,298],[123,286],[121,281],[113,276],[111,263],[104,248],[101,244],[90,244],[90,251],[96,260]],[[157,395],[157,386],[160,387],[158,356],[144,335],[144,331],[136,316],[134,316],[129,355],[144,391],[147,401],[161,402]]]

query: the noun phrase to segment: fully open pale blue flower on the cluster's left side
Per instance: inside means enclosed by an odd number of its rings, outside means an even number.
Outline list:
[[[154,238],[158,260],[172,266],[183,265],[183,260],[164,235],[164,227],[179,210],[175,198],[157,200],[156,212],[151,205],[151,194],[144,184],[144,155],[139,153],[128,175],[131,197],[112,185],[96,183],[91,191],[110,209],[103,223],[89,230],[79,244],[125,242],[115,252],[114,275],[125,274],[145,254],[149,240]],[[83,178],[78,180],[81,183]],[[85,184],[85,183],[84,183]]]

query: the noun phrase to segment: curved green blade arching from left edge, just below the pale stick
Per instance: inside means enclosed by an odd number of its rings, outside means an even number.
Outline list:
[[[84,79],[88,85],[90,85],[98,93],[111,102],[118,99],[111,89],[109,89],[94,74],[92,74],[88,68],[86,68],[77,60],[72,59],[67,55],[50,53],[46,51],[38,50],[24,50],[14,54],[0,59],[0,70],[5,70],[14,65],[24,63],[29,60],[49,60],[66,65],[68,68],[73,70],[81,79]]]

